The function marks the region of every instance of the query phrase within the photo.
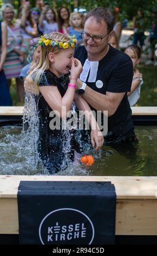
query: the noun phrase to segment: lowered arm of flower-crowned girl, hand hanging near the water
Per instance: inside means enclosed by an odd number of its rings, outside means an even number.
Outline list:
[[[91,111],[86,100],[84,100],[81,96],[77,95],[76,93],[75,103],[78,109],[83,111],[83,114],[91,127],[91,145],[93,147],[96,145],[95,150],[99,150],[104,143],[104,138],[102,132],[100,131],[99,125],[96,122],[93,112]]]

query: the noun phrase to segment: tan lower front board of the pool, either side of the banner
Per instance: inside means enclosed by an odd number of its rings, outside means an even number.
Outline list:
[[[116,235],[157,235],[156,200],[117,200]],[[0,199],[0,234],[18,234],[17,198]]]

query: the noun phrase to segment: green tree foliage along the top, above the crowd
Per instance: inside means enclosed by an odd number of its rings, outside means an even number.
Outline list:
[[[2,2],[11,2],[12,0],[0,0],[0,5]],[[17,9],[19,7],[19,0],[12,1],[14,2],[14,6]],[[144,17],[151,19],[151,13],[154,9],[157,10],[157,0],[44,0],[44,2],[49,2],[50,6],[58,9],[62,5],[69,8],[70,11],[73,11],[78,5],[78,8],[85,8],[87,11],[95,8],[95,7],[106,7],[114,10],[115,7],[120,8],[120,19],[122,20],[126,17],[129,20],[132,20],[133,16],[137,14],[137,10],[140,8],[143,11]],[[35,0],[30,0],[31,7],[35,6]]]

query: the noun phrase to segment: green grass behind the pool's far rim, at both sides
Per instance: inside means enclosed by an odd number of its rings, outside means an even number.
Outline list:
[[[144,83],[141,86],[141,96],[136,106],[157,106],[157,67],[140,64],[138,69],[143,74]],[[16,94],[15,80],[10,88],[14,106],[21,106]]]

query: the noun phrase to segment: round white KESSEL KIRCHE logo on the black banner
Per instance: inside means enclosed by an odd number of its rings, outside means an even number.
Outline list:
[[[82,211],[61,208],[43,218],[39,236],[43,245],[91,245],[94,225]]]

